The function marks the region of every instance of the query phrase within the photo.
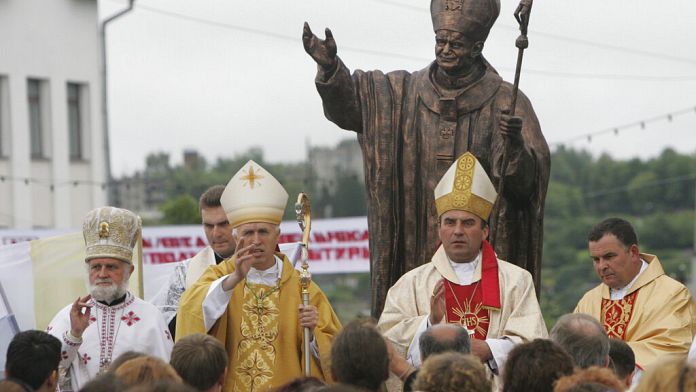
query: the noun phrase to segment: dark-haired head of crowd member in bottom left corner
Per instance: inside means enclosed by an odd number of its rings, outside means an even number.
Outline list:
[[[58,384],[60,350],[60,340],[46,332],[20,332],[7,347],[5,376],[36,391],[54,391]]]

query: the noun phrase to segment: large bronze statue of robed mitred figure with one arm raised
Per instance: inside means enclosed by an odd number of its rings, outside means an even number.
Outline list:
[[[433,189],[466,151],[504,188],[489,222],[498,256],[530,271],[539,289],[549,148],[521,92],[510,115],[513,86],[481,54],[500,2],[432,0],[430,12],[435,61],[413,73],[351,75],[331,30],[321,40],[305,23],[302,34],[326,117],[357,132],[363,152],[375,317],[392,284],[437,248]]]

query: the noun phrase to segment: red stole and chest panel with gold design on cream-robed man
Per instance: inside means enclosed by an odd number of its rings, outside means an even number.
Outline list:
[[[481,280],[458,285],[445,279],[445,307],[448,323],[460,324],[476,339],[485,339],[490,323],[489,310],[500,309],[498,259],[488,241],[481,244]]]

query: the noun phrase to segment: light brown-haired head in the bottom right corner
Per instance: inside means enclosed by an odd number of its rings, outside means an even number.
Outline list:
[[[696,391],[696,368],[683,358],[655,361],[640,377],[635,392]]]

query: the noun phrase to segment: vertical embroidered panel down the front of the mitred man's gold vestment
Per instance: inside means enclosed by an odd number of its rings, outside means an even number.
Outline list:
[[[237,345],[237,367],[234,390],[262,391],[270,387],[276,367],[280,290],[255,285],[253,292],[244,286],[241,335]],[[269,293],[270,292],[270,293]]]

